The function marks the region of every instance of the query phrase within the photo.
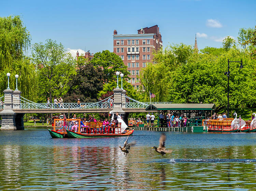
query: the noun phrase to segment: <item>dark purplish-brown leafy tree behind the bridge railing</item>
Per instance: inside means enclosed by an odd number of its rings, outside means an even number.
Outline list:
[[[103,81],[100,76],[103,75],[101,68],[96,68],[87,63],[80,65],[77,74],[71,77],[68,82],[70,89],[65,102],[76,102],[79,98],[81,102],[97,102],[97,93],[103,89]]]

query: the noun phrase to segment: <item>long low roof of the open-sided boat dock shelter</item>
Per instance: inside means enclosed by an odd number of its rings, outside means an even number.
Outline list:
[[[214,107],[213,103],[155,103],[149,105],[145,110],[212,110]]]

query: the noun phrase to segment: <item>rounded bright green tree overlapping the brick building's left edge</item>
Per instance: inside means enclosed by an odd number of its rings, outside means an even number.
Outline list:
[[[116,71],[120,71],[124,74],[124,78],[127,78],[127,66],[124,65],[123,60],[119,56],[109,50],[95,53],[90,63],[103,69],[104,75],[102,79],[105,84],[114,80]]]

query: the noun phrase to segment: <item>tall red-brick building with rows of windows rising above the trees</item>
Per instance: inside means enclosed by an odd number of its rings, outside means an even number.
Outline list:
[[[134,89],[139,89],[141,68],[146,67],[148,62],[152,62],[153,50],[162,47],[162,37],[158,25],[139,29],[138,34],[118,35],[114,30],[113,40],[114,53],[122,58],[130,71],[131,79],[128,82],[133,85]]]

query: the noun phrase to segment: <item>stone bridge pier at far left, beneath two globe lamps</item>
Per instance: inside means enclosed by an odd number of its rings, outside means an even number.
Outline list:
[[[21,91],[6,89],[3,92],[4,109],[0,112],[2,117],[1,130],[24,130],[24,114],[17,114],[13,111],[13,109],[19,109]]]

